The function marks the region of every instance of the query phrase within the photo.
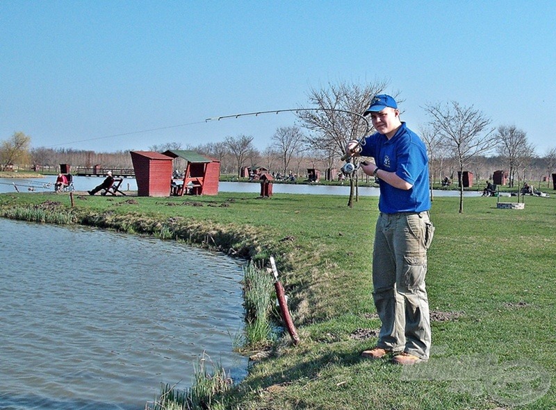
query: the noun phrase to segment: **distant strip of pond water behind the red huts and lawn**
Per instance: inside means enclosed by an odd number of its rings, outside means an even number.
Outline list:
[[[74,187],[77,191],[88,191],[99,185],[104,178],[75,176]],[[56,176],[46,176],[45,178],[17,179],[0,178],[0,193],[15,192],[14,184],[19,191],[26,192],[28,189],[35,189],[37,192],[54,191]],[[137,190],[135,178],[124,178],[122,190]],[[221,192],[243,192],[260,194],[261,185],[256,182],[220,182],[218,190]],[[318,194],[318,195],[342,195],[349,196],[349,183],[343,186],[337,185],[306,185],[306,184],[274,184],[272,185],[273,194]],[[479,196],[482,192],[465,191],[464,196]],[[434,196],[459,196],[457,190],[435,189]],[[374,187],[359,187],[361,196],[379,196],[379,189]]]

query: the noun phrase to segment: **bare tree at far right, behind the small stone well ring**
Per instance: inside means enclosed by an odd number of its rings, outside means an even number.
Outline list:
[[[514,187],[516,173],[523,168],[525,163],[530,162],[534,154],[534,146],[528,142],[525,131],[516,126],[499,126],[496,133],[498,145],[496,151],[507,161],[509,166],[509,186]],[[517,175],[519,178],[519,175]],[[523,175],[525,178],[525,175]]]

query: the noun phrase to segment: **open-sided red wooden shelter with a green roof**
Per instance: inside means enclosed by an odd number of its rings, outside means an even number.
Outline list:
[[[195,151],[171,149],[163,153],[168,157],[186,160],[183,171],[183,185],[175,191],[176,195],[217,195],[220,180],[220,161],[205,157]]]

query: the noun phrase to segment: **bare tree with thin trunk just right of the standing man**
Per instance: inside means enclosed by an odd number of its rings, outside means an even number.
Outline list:
[[[464,169],[475,155],[489,152],[497,142],[496,135],[493,135],[494,128],[489,128],[491,119],[475,110],[473,105],[464,107],[456,101],[451,104],[425,105],[425,111],[432,117],[430,125],[441,135],[457,159],[461,214],[464,212]]]

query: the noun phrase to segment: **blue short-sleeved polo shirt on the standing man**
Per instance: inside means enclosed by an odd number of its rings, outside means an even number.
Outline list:
[[[395,214],[430,210],[427,148],[404,122],[391,139],[380,133],[366,137],[361,155],[374,157],[379,169],[395,172],[402,180],[413,185],[406,191],[379,179],[380,212]]]

